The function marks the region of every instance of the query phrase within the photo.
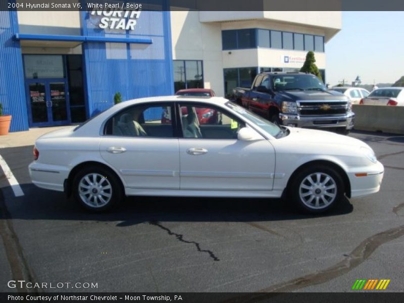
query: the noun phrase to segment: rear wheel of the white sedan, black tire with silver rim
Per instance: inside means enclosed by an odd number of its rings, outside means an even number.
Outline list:
[[[94,176],[96,181],[92,182]],[[85,179],[85,177],[88,179]],[[95,185],[97,183],[98,185]],[[88,193],[85,192],[87,185],[89,187]],[[74,199],[82,207],[96,213],[117,208],[123,199],[123,189],[120,180],[111,170],[96,165],[84,167],[73,177],[72,193]],[[90,196],[92,197],[86,199],[86,197]]]

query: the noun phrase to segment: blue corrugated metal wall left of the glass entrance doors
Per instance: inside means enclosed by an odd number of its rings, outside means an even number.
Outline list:
[[[28,130],[24,73],[18,31],[17,12],[0,10],[0,102],[3,114],[12,115],[10,131]]]

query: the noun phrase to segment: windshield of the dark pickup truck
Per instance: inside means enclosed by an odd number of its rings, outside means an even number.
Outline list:
[[[311,74],[274,75],[274,90],[326,90],[324,83]]]

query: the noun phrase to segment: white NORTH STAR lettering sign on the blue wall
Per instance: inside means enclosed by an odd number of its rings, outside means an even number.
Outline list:
[[[140,10],[115,11],[107,9],[105,11],[92,10],[92,16],[104,16],[99,20],[99,28],[135,30],[136,19],[140,16]]]

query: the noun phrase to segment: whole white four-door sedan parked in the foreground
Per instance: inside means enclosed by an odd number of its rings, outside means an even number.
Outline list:
[[[201,108],[217,118],[199,123]],[[377,192],[384,171],[358,139],[280,128],[220,97],[123,102],[79,127],[41,136],[34,157],[36,186],[72,194],[92,211],[114,207],[124,195],[154,195],[285,197],[319,213],[344,195]]]

